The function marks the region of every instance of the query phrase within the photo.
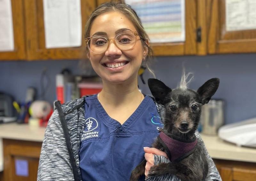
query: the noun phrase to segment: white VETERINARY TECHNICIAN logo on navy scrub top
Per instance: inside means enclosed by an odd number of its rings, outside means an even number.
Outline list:
[[[93,131],[98,127],[96,119],[89,117],[84,123],[84,134],[82,134],[81,141],[87,140],[93,137],[99,137],[98,131]]]

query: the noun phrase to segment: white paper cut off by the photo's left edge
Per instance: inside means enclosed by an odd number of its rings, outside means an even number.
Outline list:
[[[13,51],[14,37],[11,0],[0,0],[0,51]]]

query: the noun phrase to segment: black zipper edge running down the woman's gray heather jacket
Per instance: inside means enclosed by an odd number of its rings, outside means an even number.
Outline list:
[[[68,154],[69,154],[70,161],[71,161],[71,166],[72,166],[74,179],[75,179],[75,181],[80,181],[79,175],[78,175],[78,170],[77,170],[77,167],[76,167],[75,155],[74,155],[72,145],[71,145],[71,141],[70,141],[70,137],[69,137],[68,126],[67,126],[63,111],[61,109],[60,101],[56,101],[54,104],[55,104],[55,107],[57,108],[57,110],[59,112],[59,117],[60,117],[62,129],[64,131],[64,136],[65,136],[66,144],[67,144],[67,147],[68,147]]]

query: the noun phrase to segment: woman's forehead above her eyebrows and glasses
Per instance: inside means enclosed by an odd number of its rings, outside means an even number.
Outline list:
[[[91,26],[90,36],[96,32],[105,32],[109,36],[114,36],[119,29],[127,28],[136,31],[133,23],[121,12],[110,11],[97,16]]]

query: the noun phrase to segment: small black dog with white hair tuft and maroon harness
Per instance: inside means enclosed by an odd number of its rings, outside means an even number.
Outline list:
[[[148,86],[156,102],[164,105],[160,114],[164,128],[153,143],[153,147],[164,151],[170,163],[159,163],[149,170],[148,176],[174,174],[183,181],[204,181],[208,174],[208,163],[202,142],[196,139],[201,108],[208,103],[219,87],[220,80],[213,78],[197,91],[187,88],[188,75],[183,73],[180,87],[172,90],[157,79],[148,79]],[[130,181],[145,173],[144,159],[133,171]]]

